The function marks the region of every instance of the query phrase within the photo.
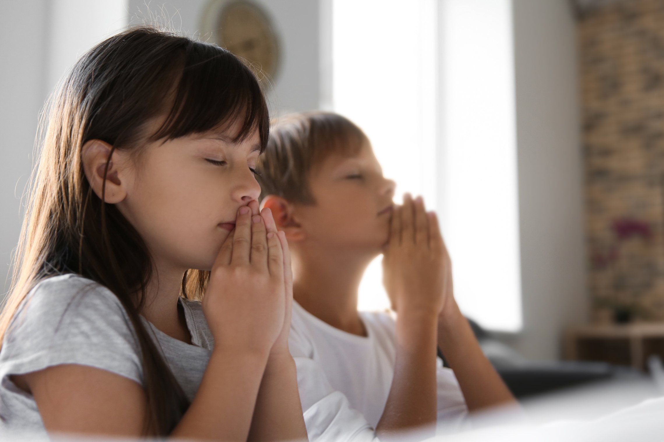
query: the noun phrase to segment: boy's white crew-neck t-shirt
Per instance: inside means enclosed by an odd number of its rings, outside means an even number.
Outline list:
[[[396,361],[396,323],[361,312],[367,337],[341,331],[293,301],[289,339],[310,440],[371,440],[387,402]],[[450,368],[437,360],[438,421],[461,425],[468,411]]]

